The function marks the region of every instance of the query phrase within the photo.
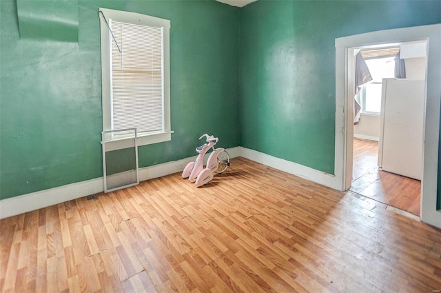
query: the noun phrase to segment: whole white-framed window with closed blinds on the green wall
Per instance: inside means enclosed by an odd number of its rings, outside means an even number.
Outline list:
[[[170,141],[170,21],[100,8],[103,130]],[[114,136],[114,140],[124,137]]]

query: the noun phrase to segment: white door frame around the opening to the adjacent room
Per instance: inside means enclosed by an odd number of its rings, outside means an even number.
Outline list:
[[[428,54],[420,218],[425,223],[441,228],[441,211],[436,210],[441,105],[441,24],[380,30],[336,39],[334,174],[336,181],[341,183],[340,190],[348,190],[351,187],[353,153],[352,48],[423,40],[427,40]]]

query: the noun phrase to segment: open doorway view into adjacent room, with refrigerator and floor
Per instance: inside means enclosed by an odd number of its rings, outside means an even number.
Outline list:
[[[359,85],[355,96],[360,110],[353,128],[350,190],[416,216],[420,216],[426,49],[425,41],[354,48],[371,81]]]

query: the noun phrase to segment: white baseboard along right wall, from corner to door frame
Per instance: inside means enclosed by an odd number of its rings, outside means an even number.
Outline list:
[[[341,182],[337,182],[338,179],[336,179],[336,176],[334,176],[333,174],[321,172],[309,168],[305,165],[300,165],[298,163],[287,161],[285,159],[276,158],[275,156],[270,156],[269,154],[264,154],[263,152],[250,150],[248,148],[242,148],[240,156],[275,168],[277,170],[299,176],[309,181],[314,181],[315,183],[325,185],[329,188],[340,190]]]

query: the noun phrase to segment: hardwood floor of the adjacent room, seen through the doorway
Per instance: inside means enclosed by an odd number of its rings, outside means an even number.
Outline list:
[[[421,181],[378,170],[378,141],[353,140],[351,191],[420,215]]]

